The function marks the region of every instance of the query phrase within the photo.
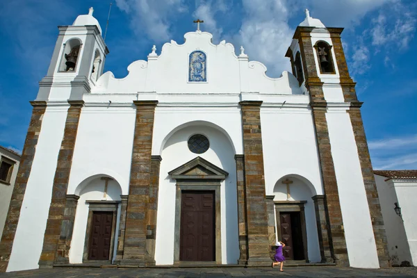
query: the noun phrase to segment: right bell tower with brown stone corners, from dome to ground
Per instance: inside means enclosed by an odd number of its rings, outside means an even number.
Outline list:
[[[363,103],[347,69],[342,31],[326,27],[306,10],[286,52],[293,75],[310,96],[325,200],[325,217],[317,217],[320,254],[322,262],[361,267],[368,259],[375,268],[386,267],[384,220],[361,118]],[[368,215],[357,220],[355,213]],[[359,254],[359,245],[369,253]]]

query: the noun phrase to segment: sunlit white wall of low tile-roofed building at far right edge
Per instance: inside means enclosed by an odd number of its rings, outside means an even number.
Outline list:
[[[395,187],[398,205],[401,207],[405,234],[407,235],[407,241],[411,252],[412,261],[410,261],[410,263],[417,265],[417,180],[404,181],[401,179],[393,179],[389,183],[393,184]]]

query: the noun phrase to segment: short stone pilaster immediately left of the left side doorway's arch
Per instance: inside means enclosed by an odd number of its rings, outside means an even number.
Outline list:
[[[70,263],[70,247],[72,233],[74,231],[76,206],[79,198],[80,197],[77,195],[67,195],[63,224],[61,226],[60,238],[58,242],[58,254],[56,257],[56,263],[59,264]]]

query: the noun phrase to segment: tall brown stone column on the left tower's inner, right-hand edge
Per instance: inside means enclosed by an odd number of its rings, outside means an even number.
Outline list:
[[[63,141],[58,153],[58,163],[52,186],[52,199],[49,206],[47,228],[45,229],[42,253],[40,254],[39,267],[52,267],[57,259],[58,242],[61,234],[61,226],[64,220],[65,204],[67,203],[67,188],[70,179],[72,156],[74,154],[76,133],[78,131],[82,100],[68,101],[67,120]]]

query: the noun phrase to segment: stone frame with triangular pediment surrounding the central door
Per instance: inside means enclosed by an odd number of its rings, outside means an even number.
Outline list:
[[[227,173],[201,157],[194,158],[168,173],[175,184],[175,224],[174,224],[174,265],[222,264],[222,214],[221,214],[221,181]],[[184,262],[179,260],[180,229],[181,229],[181,195],[183,190],[214,191],[215,197],[215,261],[213,262]]]

